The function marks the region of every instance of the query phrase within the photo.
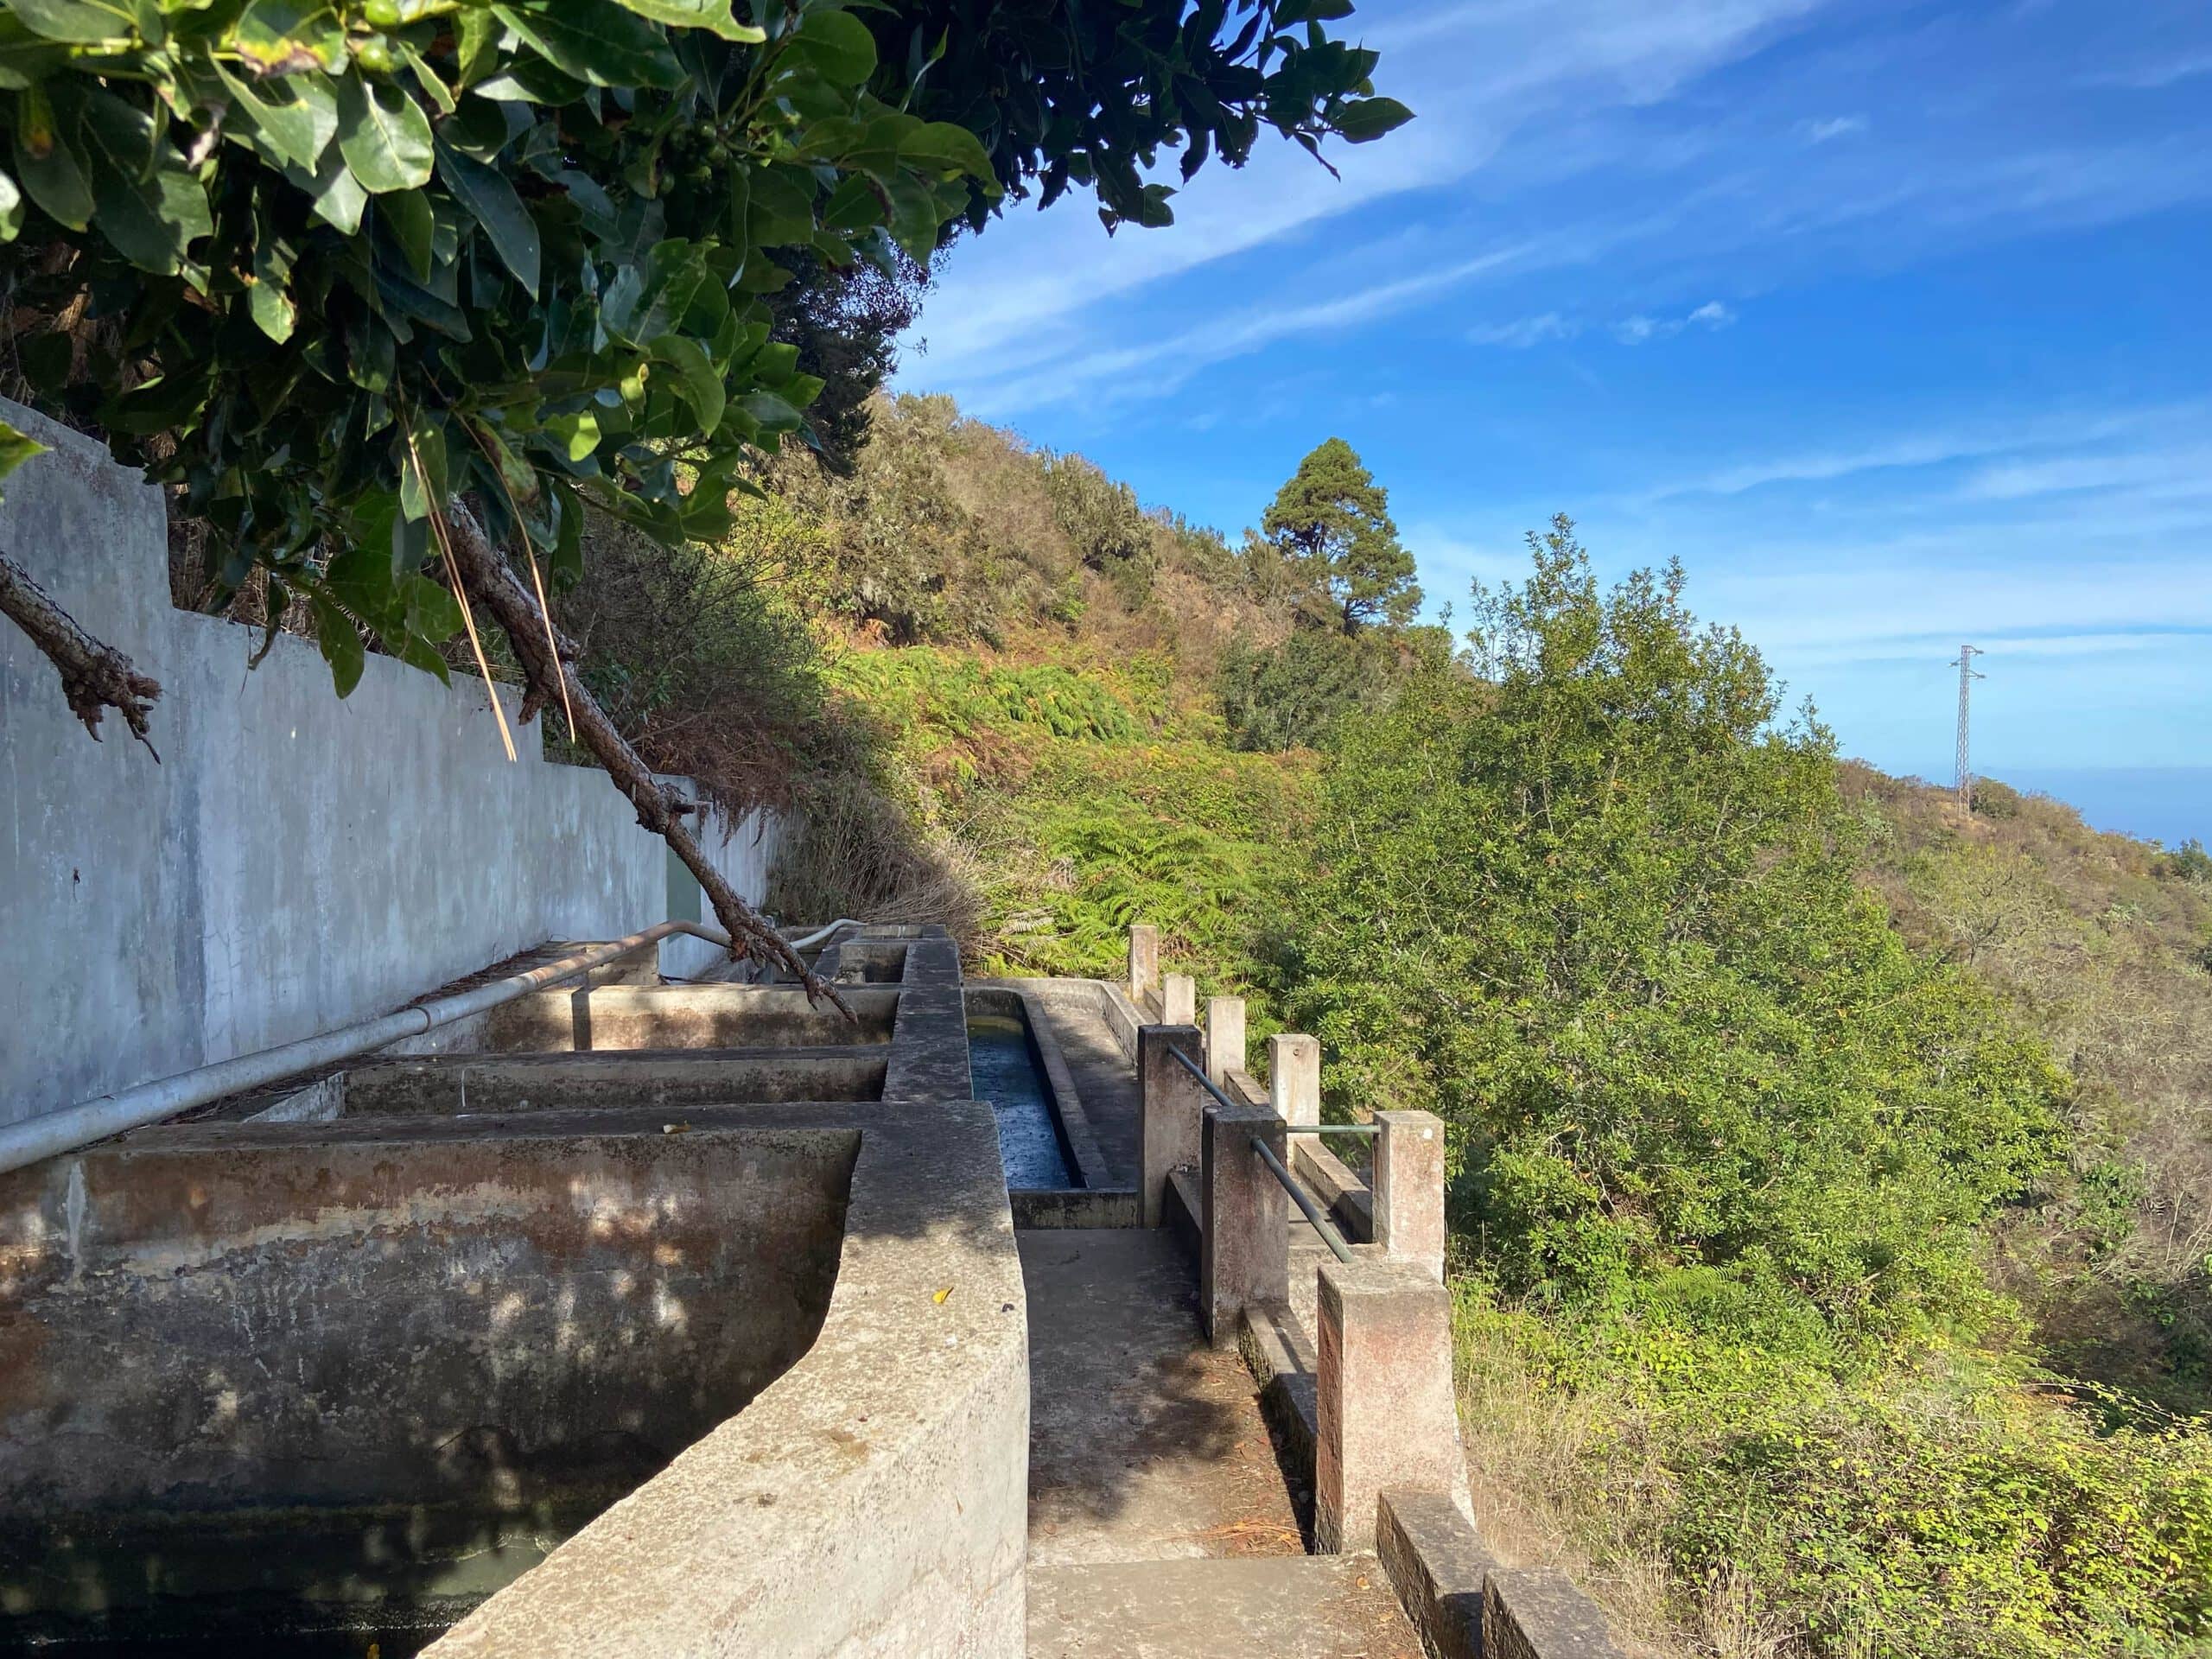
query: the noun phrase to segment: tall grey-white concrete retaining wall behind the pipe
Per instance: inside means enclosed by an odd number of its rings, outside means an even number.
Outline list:
[[[0,551],[161,681],[155,765],[93,743],[0,624],[0,1124],[305,1037],[546,938],[699,918],[699,887],[595,770],[509,765],[480,684],[389,657],[332,697],[314,644],[168,602],[159,491],[0,403],[53,453],[7,480]],[[509,719],[513,708],[509,708]],[[708,834],[748,898],[776,825]],[[714,949],[672,940],[661,967]],[[97,1035],[95,1035],[97,1033]]]

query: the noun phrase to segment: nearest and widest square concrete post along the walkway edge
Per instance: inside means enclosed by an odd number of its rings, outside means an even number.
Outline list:
[[[1464,1513],[1467,1462],[1451,1391],[1451,1298],[1411,1261],[1321,1263],[1314,1542],[1376,1546],[1387,1486],[1444,1493]]]

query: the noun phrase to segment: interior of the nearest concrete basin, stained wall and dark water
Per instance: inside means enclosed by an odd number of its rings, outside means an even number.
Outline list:
[[[414,1652],[810,1349],[858,1144],[208,1124],[0,1177],[0,1646]]]

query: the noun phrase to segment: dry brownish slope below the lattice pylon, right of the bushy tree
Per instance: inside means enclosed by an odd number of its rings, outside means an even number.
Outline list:
[[[2053,1363],[2212,1405],[2212,858],[2062,801],[1847,768],[1898,929],[1997,987],[2075,1079],[2073,1181],[2002,1241]]]

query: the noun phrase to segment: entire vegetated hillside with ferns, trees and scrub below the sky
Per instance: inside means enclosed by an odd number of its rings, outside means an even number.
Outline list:
[[[1130,920],[1329,1108],[1451,1126],[1482,1522],[1663,1655],[2212,1639],[2212,858],[1843,761],[1688,577],[1562,520],[1409,624],[1340,442],[1252,531],[940,398],[564,602],[774,905],[1113,973]],[[617,557],[611,557],[617,553]]]

